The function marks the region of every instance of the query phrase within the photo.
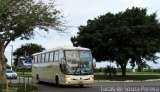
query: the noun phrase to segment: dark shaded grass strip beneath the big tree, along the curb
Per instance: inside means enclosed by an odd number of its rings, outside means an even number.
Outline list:
[[[125,80],[148,80],[148,79],[160,79],[160,75],[126,75],[122,77],[121,75],[107,76],[107,75],[95,75],[95,80],[111,80],[111,81],[125,81]]]

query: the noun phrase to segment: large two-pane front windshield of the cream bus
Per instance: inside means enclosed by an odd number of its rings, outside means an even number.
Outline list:
[[[92,55],[89,50],[65,51],[66,73],[75,75],[93,74]]]

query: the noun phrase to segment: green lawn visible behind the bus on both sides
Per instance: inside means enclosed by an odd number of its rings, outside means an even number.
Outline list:
[[[31,72],[18,72],[20,77],[32,77]],[[102,74],[102,73],[101,73]],[[124,81],[124,80],[148,80],[148,79],[160,79],[160,73],[152,72],[135,72],[126,73],[126,77],[122,77],[120,73],[112,76],[111,78],[107,75],[95,75],[95,80],[111,80],[111,81]]]

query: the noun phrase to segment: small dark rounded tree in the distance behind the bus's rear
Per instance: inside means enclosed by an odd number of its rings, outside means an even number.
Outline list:
[[[21,45],[20,48],[17,48],[14,52],[13,52],[13,56],[14,58],[14,65],[18,66],[18,59],[19,57],[23,56],[29,56],[31,57],[32,54],[37,53],[37,52],[41,52],[45,50],[45,48],[43,48],[41,45],[38,44],[34,44],[34,43],[27,43],[24,45]]]

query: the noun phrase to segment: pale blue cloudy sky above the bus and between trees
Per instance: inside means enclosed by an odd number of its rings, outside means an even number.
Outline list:
[[[118,13],[135,6],[147,8],[148,14],[156,12],[157,18],[160,19],[159,0],[56,0],[56,4],[57,8],[61,10],[65,16],[65,20],[67,21],[66,25],[71,27],[67,29],[65,33],[56,32],[52,29],[46,33],[35,29],[37,34],[34,39],[17,39],[11,42],[5,51],[9,65],[11,64],[11,45],[13,45],[13,51],[26,43],[36,43],[42,45],[46,49],[58,46],[72,46],[70,38],[77,35],[77,27],[86,25],[88,19],[94,19],[108,12]],[[152,62],[148,64],[154,68],[160,68],[160,64],[155,65]],[[110,65],[110,63],[97,63],[97,67],[105,67],[106,65]],[[130,66],[127,65],[127,67]]]

